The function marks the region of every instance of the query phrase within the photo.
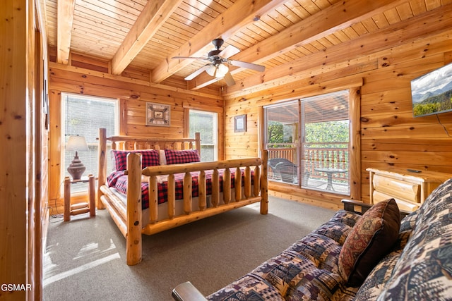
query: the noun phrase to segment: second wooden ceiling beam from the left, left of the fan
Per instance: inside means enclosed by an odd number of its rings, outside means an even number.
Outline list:
[[[64,0],[63,0],[64,1]],[[120,75],[183,0],[148,1],[112,59],[112,73]]]

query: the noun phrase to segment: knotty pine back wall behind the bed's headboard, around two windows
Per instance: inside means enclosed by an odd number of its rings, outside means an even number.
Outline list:
[[[50,204],[61,212],[61,92],[92,95],[97,97],[112,97],[120,100],[120,134],[150,135],[156,137],[186,137],[184,131],[188,109],[198,109],[218,112],[219,145],[223,145],[224,130],[223,102],[215,92],[191,92],[182,87],[186,82],[178,82],[179,87],[168,85],[151,85],[149,74],[138,70],[126,69],[123,76],[111,75],[109,67],[103,69],[102,61],[71,56],[70,65],[54,63],[54,51],[51,51],[49,63],[50,74]],[[90,69],[88,69],[90,68]],[[93,70],[94,69],[94,70]],[[96,70],[98,69],[98,70]],[[105,71],[105,72],[104,72]],[[173,83],[174,85],[174,83]],[[146,126],[145,102],[169,104],[171,106],[170,126]],[[219,157],[222,158],[223,148],[220,147]],[[71,199],[77,202],[77,199]]]

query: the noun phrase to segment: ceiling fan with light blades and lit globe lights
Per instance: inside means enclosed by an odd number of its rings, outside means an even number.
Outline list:
[[[264,66],[256,65],[255,63],[246,63],[244,61],[235,61],[228,59],[230,56],[238,54],[240,52],[240,49],[232,45],[228,45],[225,49],[220,50],[224,42],[225,41],[223,41],[223,39],[214,39],[212,41],[212,44],[213,46],[215,46],[215,50],[209,51],[207,57],[174,56],[172,57],[172,59],[198,59],[203,61],[210,61],[210,63],[202,66],[194,73],[191,73],[189,76],[187,76],[185,80],[193,80],[194,78],[196,78],[196,76],[206,71],[208,75],[215,78],[225,78],[226,85],[228,86],[235,85],[234,78],[232,78],[229,67],[227,66],[228,64],[232,66],[256,70],[259,72],[263,72],[263,70],[266,69]]]

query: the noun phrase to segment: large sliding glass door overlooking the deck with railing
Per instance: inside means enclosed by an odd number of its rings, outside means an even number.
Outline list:
[[[270,180],[350,194],[349,92],[264,108]]]

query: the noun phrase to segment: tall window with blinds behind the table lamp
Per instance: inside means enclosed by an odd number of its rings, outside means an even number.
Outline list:
[[[118,132],[118,111],[119,104],[117,99],[107,99],[100,97],[87,97],[84,95],[75,94],[61,94],[62,102],[61,116],[63,121],[61,124],[61,142],[63,143],[63,152],[61,168],[63,171],[61,175],[69,176],[67,168],[75,152],[66,152],[66,144],[71,135],[80,135],[85,137],[88,143],[88,152],[78,152],[78,157],[81,159],[86,169],[83,176],[88,176],[89,173],[97,176],[97,137],[99,136],[99,128],[107,129],[107,136],[115,135]],[[111,160],[107,160],[107,164],[111,164]],[[111,167],[107,167],[111,169]],[[63,179],[61,179],[62,181]],[[86,191],[88,186],[83,183],[73,185],[71,190],[73,192]]]

